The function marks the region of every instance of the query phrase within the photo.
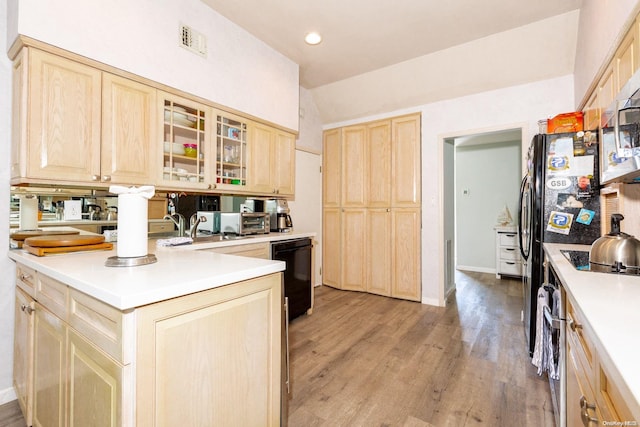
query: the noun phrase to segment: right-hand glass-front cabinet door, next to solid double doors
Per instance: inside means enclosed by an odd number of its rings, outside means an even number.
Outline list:
[[[216,112],[215,188],[242,191],[247,185],[247,123],[244,119]]]

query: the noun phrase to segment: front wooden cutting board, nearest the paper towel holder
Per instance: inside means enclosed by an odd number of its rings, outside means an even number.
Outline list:
[[[63,235],[36,236],[24,240],[22,248],[37,256],[78,251],[113,249],[113,244],[105,243],[104,236]]]

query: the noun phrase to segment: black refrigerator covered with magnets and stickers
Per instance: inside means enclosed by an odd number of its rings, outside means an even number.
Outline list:
[[[523,321],[529,356],[536,337],[537,294],[544,280],[543,243],[590,245],[600,237],[596,132],[536,135],[519,198]]]

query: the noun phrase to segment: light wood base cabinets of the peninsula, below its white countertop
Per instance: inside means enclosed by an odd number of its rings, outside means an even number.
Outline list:
[[[16,316],[33,319],[32,363],[25,354],[31,320],[16,323],[15,363],[26,368],[14,381],[33,384],[31,403],[28,387],[16,388],[25,419],[32,413],[34,426],[280,425],[281,281],[271,274],[123,312],[35,272],[34,294],[19,283],[16,299]],[[39,289],[67,304],[51,311]],[[34,311],[21,309],[30,301]]]

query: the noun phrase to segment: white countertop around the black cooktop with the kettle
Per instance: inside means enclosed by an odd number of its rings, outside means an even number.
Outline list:
[[[544,249],[565,290],[577,304],[598,341],[604,365],[616,383],[635,399],[631,409],[640,420],[640,277],[578,271],[560,252],[589,251],[589,245],[545,243]],[[625,396],[628,393],[623,394]]]

